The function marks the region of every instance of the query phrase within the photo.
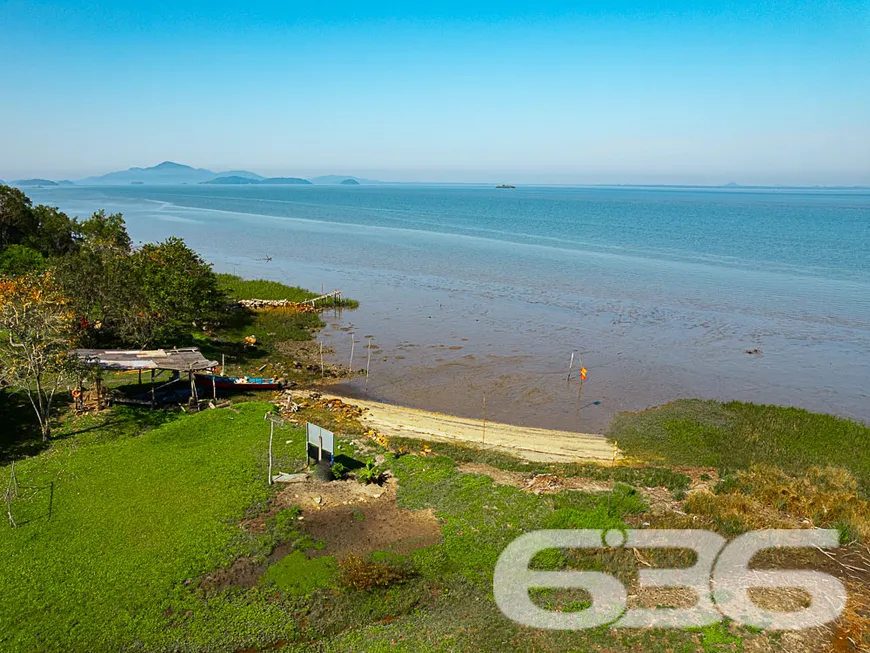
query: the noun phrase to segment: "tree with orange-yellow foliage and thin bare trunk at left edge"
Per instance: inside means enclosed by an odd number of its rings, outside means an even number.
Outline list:
[[[51,273],[0,277],[0,382],[23,392],[51,435],[51,407],[62,383],[77,369],[75,318]]]

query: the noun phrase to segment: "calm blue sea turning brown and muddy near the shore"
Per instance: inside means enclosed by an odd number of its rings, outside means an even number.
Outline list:
[[[473,186],[34,189],[134,240],[358,311],[327,344],[377,399],[599,430],[681,396],[870,420],[870,193]],[[271,262],[263,260],[272,257]],[[353,333],[353,336],[351,336]],[[758,348],[759,354],[747,354]],[[566,381],[570,353],[589,379]],[[362,352],[362,354],[360,353]],[[579,395],[579,396],[578,396]],[[595,403],[598,402],[598,403]]]

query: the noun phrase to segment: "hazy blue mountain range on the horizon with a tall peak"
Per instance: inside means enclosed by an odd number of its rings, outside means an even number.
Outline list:
[[[351,181],[348,181],[351,180]],[[48,180],[45,180],[48,182]],[[76,183],[88,186],[120,185],[120,184],[380,184],[383,182],[371,179],[361,179],[350,175],[325,175],[315,177],[311,181],[299,177],[264,177],[249,170],[227,170],[214,172],[205,168],[192,168],[181,163],[164,161],[151,168],[129,168],[105,175],[87,177]],[[43,185],[53,185],[48,182]]]

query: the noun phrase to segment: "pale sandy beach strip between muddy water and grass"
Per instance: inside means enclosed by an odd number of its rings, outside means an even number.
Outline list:
[[[613,458],[613,446],[602,435],[550,431],[487,421],[484,442],[482,420],[391,406],[364,399],[339,398],[364,408],[360,421],[386,436],[483,443],[487,447],[540,462],[609,461]]]

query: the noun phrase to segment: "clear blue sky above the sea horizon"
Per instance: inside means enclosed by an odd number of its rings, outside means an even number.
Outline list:
[[[0,178],[870,184],[870,0],[0,0]]]

